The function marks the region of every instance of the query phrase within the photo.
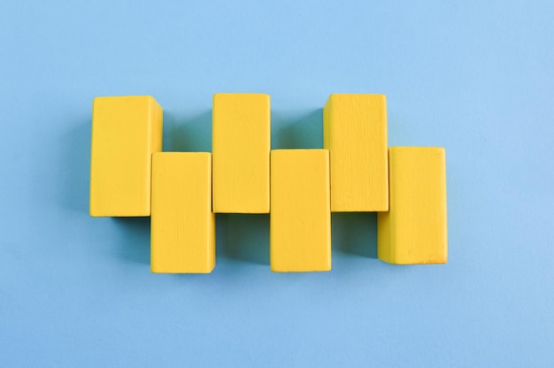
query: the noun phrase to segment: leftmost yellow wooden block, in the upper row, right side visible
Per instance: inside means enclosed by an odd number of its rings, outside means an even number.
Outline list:
[[[150,216],[151,157],[162,149],[162,120],[150,96],[95,98],[90,216]]]

